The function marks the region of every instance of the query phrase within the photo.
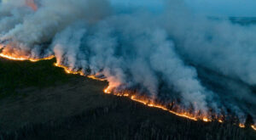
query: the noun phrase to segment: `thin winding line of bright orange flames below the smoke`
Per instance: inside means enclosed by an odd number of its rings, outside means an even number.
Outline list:
[[[54,55],[51,55],[51,56],[46,57],[44,59],[28,59],[26,57],[18,57],[18,58],[16,58],[16,57],[10,56],[8,54],[3,54],[3,53],[0,53],[0,57],[2,57],[3,59],[10,59],[10,60],[16,60],[16,61],[26,61],[26,60],[29,60],[31,62],[38,62],[40,60],[47,60],[47,59],[54,59],[55,58]],[[67,74],[85,76],[83,71],[70,70],[67,66],[64,66],[64,65],[62,65],[60,63],[55,63],[54,65],[56,67],[60,67],[60,68],[64,69]],[[93,76],[93,75],[90,75],[90,76],[87,76],[87,77],[90,78],[90,79],[97,80],[97,81],[106,81],[106,79],[98,78],[97,76]],[[135,94],[131,95],[131,93],[129,93],[129,92],[125,92],[125,93],[115,93],[115,92],[112,92],[112,88],[110,86],[108,86],[106,89],[104,89],[103,92],[106,93],[106,94],[113,94],[113,95],[118,96],[118,97],[131,98],[131,100],[133,100],[133,101],[135,101],[137,103],[144,104],[144,105],[146,105],[146,106],[148,106],[150,108],[162,109],[162,110],[165,110],[165,111],[167,111],[169,113],[172,113],[173,115],[177,115],[177,116],[189,119],[189,120],[195,120],[195,121],[196,120],[203,120],[205,122],[212,121],[211,117],[202,116],[202,115],[194,115],[194,114],[189,113],[189,111],[186,111],[185,109],[179,109],[179,108],[175,109],[175,110],[168,109],[164,105],[154,103],[154,101],[152,101],[152,100],[143,99],[143,98],[141,98],[141,97],[139,97],[139,96],[137,96]],[[218,122],[220,122],[220,123],[224,122],[224,120],[222,120],[221,118],[216,118],[216,120],[218,120]],[[241,123],[239,124],[239,126],[241,128],[245,127]],[[251,127],[253,128],[254,131],[256,131],[256,126],[252,125]]]

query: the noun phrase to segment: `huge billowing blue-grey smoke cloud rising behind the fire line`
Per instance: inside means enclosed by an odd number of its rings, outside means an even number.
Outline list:
[[[137,89],[208,115],[256,118],[256,26],[191,14],[183,2],[161,10],[107,0],[0,3],[0,42],[10,55],[44,58],[105,77],[113,92]],[[120,2],[119,2],[120,3]],[[119,5],[119,4],[118,4]]]

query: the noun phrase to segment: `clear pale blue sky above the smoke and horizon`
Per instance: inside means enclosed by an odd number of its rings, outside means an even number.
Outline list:
[[[164,0],[111,0],[124,6],[160,8]],[[175,0],[174,0],[175,1]],[[196,13],[217,16],[254,16],[256,0],[185,0],[186,5]]]

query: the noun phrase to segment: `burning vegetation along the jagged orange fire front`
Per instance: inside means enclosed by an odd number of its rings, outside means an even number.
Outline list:
[[[26,57],[13,57],[13,56],[9,56],[8,54],[3,54],[3,53],[0,53],[0,57],[4,58],[4,59],[10,59],[10,60],[16,60],[16,61],[25,61],[25,60],[28,60],[28,61],[31,61],[31,62],[38,62],[40,60],[48,60],[48,59],[54,59],[55,56],[51,55],[49,57],[46,57],[44,59],[26,59]],[[54,64],[56,67],[60,67],[62,69],[65,70],[65,72],[67,74],[73,74],[73,75],[80,75],[80,76],[86,76],[84,74],[83,71],[74,71],[74,70],[70,70],[67,66],[64,66],[64,65],[61,65],[61,64],[58,64],[58,63],[55,63]],[[104,78],[98,78],[97,76],[87,76],[89,77],[90,79],[94,79],[94,80],[97,80],[97,81],[106,81],[106,79]],[[124,91],[124,92],[113,92],[113,88],[111,88],[111,86],[108,86],[107,88],[105,88],[103,90],[103,92],[105,92],[106,94],[112,94],[115,95],[115,96],[118,96],[118,97],[127,97],[127,98],[131,98],[131,100],[135,101],[135,102],[138,102],[138,103],[141,103],[141,104],[144,104],[150,108],[156,108],[156,109],[162,109],[162,110],[165,110],[165,111],[168,111],[170,113],[172,113],[173,115],[177,115],[177,116],[180,116],[180,117],[183,117],[183,118],[187,118],[189,120],[203,120],[205,122],[209,122],[209,121],[218,121],[219,123],[223,123],[224,122],[224,115],[201,115],[200,111],[199,110],[192,110],[190,109],[191,111],[189,111],[189,109],[183,109],[182,106],[178,105],[178,104],[175,104],[174,102],[172,102],[171,104],[160,104],[160,103],[157,103],[155,102],[154,100],[151,100],[149,98],[147,98],[146,96],[140,96],[140,94],[138,94],[137,92],[130,92],[130,91]],[[245,125],[242,124],[242,123],[239,123],[239,122],[236,122],[238,124],[238,126],[240,126],[241,128],[244,128]],[[253,128],[253,130],[256,131],[256,127],[251,125],[251,127]]]

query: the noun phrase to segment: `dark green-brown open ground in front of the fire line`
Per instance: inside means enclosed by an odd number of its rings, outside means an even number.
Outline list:
[[[6,63],[0,62],[1,66]],[[12,76],[16,64],[21,69],[15,71],[28,71],[27,76],[52,69],[48,66],[52,66],[52,61],[32,65],[31,70],[26,70],[30,67],[29,62],[9,63],[10,69],[0,76],[9,73],[6,78],[13,78],[10,83],[23,78],[21,75]],[[26,68],[21,65],[24,63]],[[28,83],[25,86],[20,87],[18,82],[9,87],[13,90],[2,87],[3,91],[8,89],[15,94],[8,93],[10,96],[0,98],[0,140],[256,139],[256,132],[251,128],[239,128],[228,122],[187,120],[164,110],[148,108],[129,98],[104,94],[102,90],[108,85],[104,81],[82,76],[63,78],[62,74],[58,74],[59,78],[65,80],[58,81],[55,73],[63,70],[55,69],[55,72],[49,70],[45,77],[39,77],[38,84],[23,74]],[[49,80],[55,82],[44,85]]]

